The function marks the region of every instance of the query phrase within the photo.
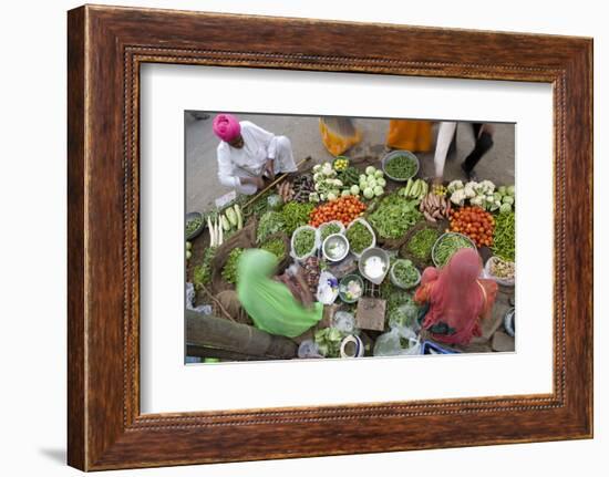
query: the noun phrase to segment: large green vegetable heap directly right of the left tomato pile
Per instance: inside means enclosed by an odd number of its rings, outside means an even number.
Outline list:
[[[417,205],[417,200],[409,200],[398,194],[391,194],[381,199],[378,207],[368,216],[368,221],[380,237],[401,238],[421,220]]]

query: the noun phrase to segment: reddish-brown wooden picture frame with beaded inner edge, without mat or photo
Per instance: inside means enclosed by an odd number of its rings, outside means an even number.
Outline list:
[[[68,14],[68,58],[71,466],[100,470],[592,436],[591,39],[85,6]],[[142,415],[138,72],[145,62],[550,83],[554,392]]]

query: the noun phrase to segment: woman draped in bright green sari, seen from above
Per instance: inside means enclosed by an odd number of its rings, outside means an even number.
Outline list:
[[[276,267],[277,258],[272,253],[260,249],[246,250],[237,268],[237,295],[256,328],[271,334],[295,338],[321,320],[323,305],[310,302],[303,294],[296,292],[296,287],[288,287],[288,279],[273,279]],[[304,288],[300,291],[304,291]],[[290,289],[300,295],[300,300],[295,298]]]

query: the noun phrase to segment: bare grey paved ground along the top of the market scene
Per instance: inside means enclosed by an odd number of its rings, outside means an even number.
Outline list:
[[[199,114],[203,116],[202,114]],[[211,131],[214,114],[206,120],[197,120],[185,114],[186,127],[186,211],[203,211],[210,207],[214,199],[229,191],[217,178],[216,147],[218,138]],[[318,117],[273,116],[262,114],[239,114],[239,120],[249,120],[260,127],[278,135],[286,135],[292,143],[296,162],[312,156],[316,162],[331,159],[332,156],[321,144]],[[382,146],[389,127],[388,120],[358,120],[363,132],[362,144]],[[481,160],[476,172],[481,178],[497,184],[514,184],[514,125],[496,124],[493,149]],[[435,137],[434,126],[434,137]],[[456,153],[446,162],[444,178],[463,179],[460,164],[472,151],[474,138],[467,123],[457,127]],[[345,154],[349,156],[349,152]],[[422,175],[433,175],[433,153],[417,154],[421,159]]]

